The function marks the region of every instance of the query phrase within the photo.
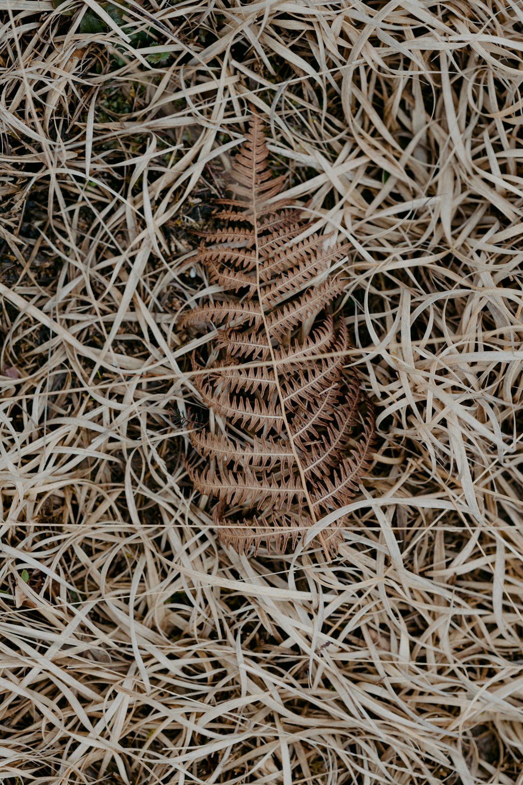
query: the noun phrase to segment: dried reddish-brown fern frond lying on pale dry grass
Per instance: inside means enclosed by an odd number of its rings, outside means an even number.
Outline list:
[[[187,470],[226,545],[281,550],[354,496],[374,421],[357,374],[344,370],[347,330],[332,312],[344,282],[329,270],[347,248],[307,235],[299,208],[277,202],[285,178],[267,166],[256,115],[231,181],[215,214],[220,228],[200,233],[198,253],[223,294],[180,319],[190,331],[218,329],[206,359],[194,356],[195,385],[213,416],[212,428],[191,432]],[[346,523],[318,535],[327,557]]]

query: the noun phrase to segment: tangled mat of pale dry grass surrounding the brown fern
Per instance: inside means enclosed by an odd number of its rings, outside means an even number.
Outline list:
[[[0,0],[0,779],[521,785],[523,5],[96,9]],[[249,101],[354,248],[332,564],[223,550],[169,420]]]

